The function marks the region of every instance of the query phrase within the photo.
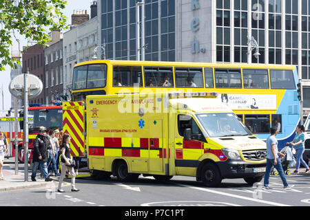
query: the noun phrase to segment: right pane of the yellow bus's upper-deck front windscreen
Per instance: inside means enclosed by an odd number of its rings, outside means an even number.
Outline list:
[[[87,88],[101,88],[105,87],[106,74],[105,65],[88,65],[87,70]]]

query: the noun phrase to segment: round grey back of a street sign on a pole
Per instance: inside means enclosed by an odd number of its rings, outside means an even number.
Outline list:
[[[43,83],[37,76],[34,76],[32,74],[20,74],[19,76],[13,78],[9,85],[10,93],[16,98],[23,98],[24,75],[28,77],[28,98],[34,98],[39,96],[43,89]]]

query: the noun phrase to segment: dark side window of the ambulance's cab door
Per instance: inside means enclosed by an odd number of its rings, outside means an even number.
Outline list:
[[[204,141],[203,133],[200,131],[198,124],[189,115],[178,115],[178,133],[184,136],[185,129],[192,129],[192,139]]]

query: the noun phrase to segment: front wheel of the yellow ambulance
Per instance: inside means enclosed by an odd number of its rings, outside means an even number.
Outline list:
[[[203,184],[208,187],[214,187],[220,185],[222,177],[220,175],[220,170],[215,164],[205,164],[201,169],[201,178]]]

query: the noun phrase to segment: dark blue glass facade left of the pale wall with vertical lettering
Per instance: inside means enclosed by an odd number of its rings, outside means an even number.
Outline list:
[[[136,2],[99,2],[107,59],[136,60]],[[175,32],[175,0],[145,0],[145,60],[175,61]]]

